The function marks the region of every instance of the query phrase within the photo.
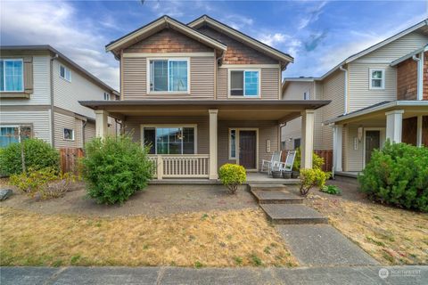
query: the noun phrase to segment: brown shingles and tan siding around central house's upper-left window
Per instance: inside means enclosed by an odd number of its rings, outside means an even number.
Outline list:
[[[214,51],[177,31],[165,29],[124,50],[124,53],[212,53],[212,56],[190,57],[190,96],[188,94],[147,94],[147,58],[124,57],[123,99],[213,99]]]

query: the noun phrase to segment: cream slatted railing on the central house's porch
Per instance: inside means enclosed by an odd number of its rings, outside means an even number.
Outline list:
[[[154,175],[162,178],[209,178],[210,155],[155,155],[150,156],[155,163]]]

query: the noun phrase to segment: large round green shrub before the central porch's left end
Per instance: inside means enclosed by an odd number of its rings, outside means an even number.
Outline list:
[[[103,204],[122,204],[152,179],[153,163],[147,148],[129,136],[107,136],[86,143],[81,160],[87,195]]]

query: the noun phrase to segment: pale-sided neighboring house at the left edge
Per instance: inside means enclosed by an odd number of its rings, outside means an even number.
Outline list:
[[[29,136],[55,148],[83,147],[95,136],[94,110],[78,103],[86,99],[119,94],[52,46],[0,46],[0,147]],[[109,132],[118,131],[109,118]]]

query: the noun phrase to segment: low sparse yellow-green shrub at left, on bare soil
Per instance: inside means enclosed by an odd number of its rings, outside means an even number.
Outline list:
[[[71,173],[59,174],[56,168],[45,167],[38,170],[29,168],[27,173],[11,175],[9,182],[31,198],[52,199],[70,191],[76,179]]]

